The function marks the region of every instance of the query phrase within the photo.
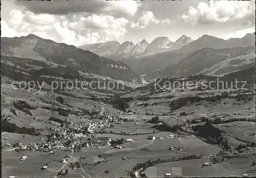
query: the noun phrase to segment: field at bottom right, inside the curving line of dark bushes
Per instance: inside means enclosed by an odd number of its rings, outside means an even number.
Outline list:
[[[144,173],[148,177],[163,177],[165,173],[173,176],[255,176],[255,168],[251,166],[254,158],[251,153],[231,158],[222,163],[211,164],[210,167],[202,167],[203,163],[209,162],[208,158],[184,160],[160,163],[147,168]],[[177,172],[181,170],[181,172]]]

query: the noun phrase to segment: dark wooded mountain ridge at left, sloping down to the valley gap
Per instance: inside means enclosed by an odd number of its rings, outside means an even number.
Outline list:
[[[117,41],[113,43],[119,44]],[[111,46],[109,44],[106,42],[94,44],[91,47],[97,46],[98,49],[102,49],[105,46]],[[42,39],[32,34],[19,38],[1,37],[1,56],[32,58],[33,60],[50,62],[55,66],[71,67],[82,72],[97,73],[124,81],[139,78],[130,67],[120,61],[113,61],[98,56],[89,50]]]

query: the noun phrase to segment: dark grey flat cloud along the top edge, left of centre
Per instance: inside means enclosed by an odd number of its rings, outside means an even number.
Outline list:
[[[35,14],[58,14],[90,12],[109,13],[133,16],[141,6],[137,1],[53,1],[53,2],[24,2],[16,1],[15,5],[23,6],[25,10]]]

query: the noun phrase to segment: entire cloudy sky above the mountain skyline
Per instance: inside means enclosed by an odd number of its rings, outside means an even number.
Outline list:
[[[242,38],[255,32],[253,1],[1,1],[1,37],[34,34],[70,45],[166,36]]]

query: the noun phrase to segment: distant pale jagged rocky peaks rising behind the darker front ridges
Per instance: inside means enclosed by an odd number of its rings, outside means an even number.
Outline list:
[[[124,43],[126,45],[128,44],[128,42]],[[170,41],[167,37],[157,37],[151,43],[148,43],[143,39],[134,46],[131,44],[129,48],[124,48],[124,43],[120,45],[118,51],[116,50],[116,52],[113,53],[112,50],[112,54],[107,57],[116,61],[124,62],[139,75],[143,75],[145,77],[158,77],[157,73],[161,73],[160,75],[166,73],[164,71],[161,72],[161,70],[166,70],[166,67],[172,68],[172,66],[179,60],[202,48],[221,49],[253,46],[255,44],[255,35],[247,34],[243,38],[230,38],[228,40],[209,35],[203,35],[199,39],[193,40],[190,37],[182,35],[175,42]],[[84,48],[82,46],[79,47],[90,50],[90,48]],[[116,48],[116,45],[113,44],[112,49],[114,48]],[[129,50],[130,52],[128,52]],[[95,50],[92,50],[92,52],[94,51]],[[103,51],[97,51],[96,54],[102,55]],[[189,66],[189,68],[193,67],[195,66]]]

